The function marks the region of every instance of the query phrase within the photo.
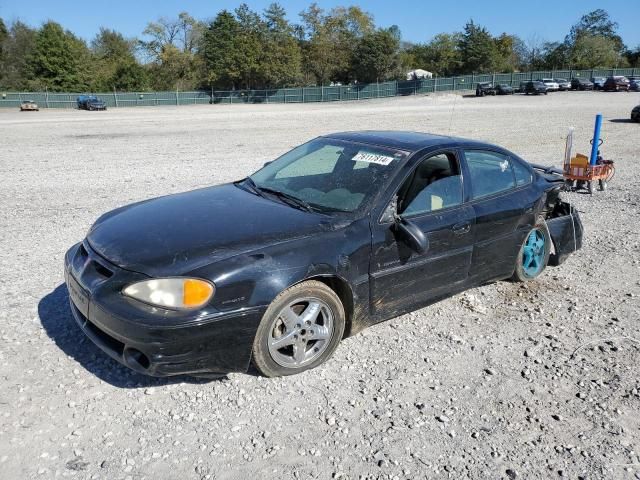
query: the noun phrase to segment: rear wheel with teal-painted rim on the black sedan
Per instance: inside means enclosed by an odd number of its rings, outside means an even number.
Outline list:
[[[546,268],[550,254],[551,237],[547,224],[540,218],[520,247],[512,280],[528,282],[536,279]]]

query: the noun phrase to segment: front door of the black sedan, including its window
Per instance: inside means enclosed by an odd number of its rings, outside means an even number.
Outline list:
[[[454,151],[423,159],[398,190],[398,213],[417,225],[428,248],[417,253],[398,239],[393,223],[372,220],[372,314],[389,318],[429,303],[467,279],[475,216],[464,203]]]

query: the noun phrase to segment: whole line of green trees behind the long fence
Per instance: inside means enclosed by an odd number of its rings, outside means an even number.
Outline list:
[[[147,91],[263,89],[382,82],[421,68],[438,76],[640,67],[618,24],[594,10],[561,42],[492,35],[473,20],[425,43],[382,28],[358,6],[311,4],[299,22],[278,3],[246,4],[208,21],[187,12],[147,24],[140,38],[101,28],[87,43],[54,21],[34,28],[0,18],[0,90]]]

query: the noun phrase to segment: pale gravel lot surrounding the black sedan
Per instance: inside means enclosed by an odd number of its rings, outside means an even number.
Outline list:
[[[637,93],[0,111],[0,477],[640,479]],[[560,164],[605,117],[584,249],[345,340],[265,379],[154,379],[76,328],[65,250],[101,213],[227,182],[319,134],[451,133]],[[635,170],[634,170],[635,168]]]

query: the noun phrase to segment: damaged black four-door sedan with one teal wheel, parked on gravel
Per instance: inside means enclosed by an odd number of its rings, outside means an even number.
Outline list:
[[[562,187],[472,140],[316,138],[243,180],[104,214],[65,256],[72,313],[137,372],[298,373],[370,325],[562,263],[582,243]]]

